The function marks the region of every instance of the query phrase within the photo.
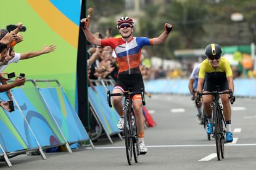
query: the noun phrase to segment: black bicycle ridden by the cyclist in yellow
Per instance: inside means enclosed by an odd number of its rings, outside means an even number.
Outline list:
[[[223,115],[223,109],[220,104],[220,95],[229,94],[229,98],[232,98],[231,104],[235,101],[235,97],[231,90],[229,91],[212,91],[206,93],[197,93],[197,99],[200,99],[202,95],[212,95],[213,102],[211,104],[213,110],[213,137],[215,138],[217,157],[220,161],[220,157],[224,159],[224,144],[225,144],[225,134],[226,134],[226,122]],[[197,101],[198,103],[198,101]]]

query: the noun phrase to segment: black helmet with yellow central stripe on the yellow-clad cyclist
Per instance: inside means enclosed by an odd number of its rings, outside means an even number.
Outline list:
[[[218,60],[221,56],[222,50],[220,45],[218,44],[209,44],[205,47],[205,55],[210,60],[216,59]]]

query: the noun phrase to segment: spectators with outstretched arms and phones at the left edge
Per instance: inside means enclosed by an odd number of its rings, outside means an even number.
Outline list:
[[[20,31],[26,31],[25,26],[22,23],[17,25],[8,25],[7,29],[0,29],[0,92],[6,91],[9,96],[9,101],[0,101],[0,106],[11,112],[14,111],[12,102],[12,93],[10,89],[24,85],[26,79],[25,74],[20,74],[19,77],[15,77],[15,73],[4,72],[4,69],[11,63],[18,63],[20,60],[26,60],[35,56],[40,56],[45,53],[53,52],[56,49],[56,45],[44,45],[42,50],[27,53],[16,53],[14,47],[23,42],[23,36]],[[22,70],[20,71],[22,72]],[[14,82],[8,83],[10,79],[15,77]]]

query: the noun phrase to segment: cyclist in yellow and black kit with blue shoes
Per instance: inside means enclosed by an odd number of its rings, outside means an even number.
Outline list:
[[[226,58],[221,57],[221,47],[218,44],[209,44],[205,47],[205,59],[200,65],[199,80],[197,85],[197,90],[199,93],[202,91],[212,92],[216,91],[234,91],[233,73],[229,61]],[[203,86],[204,83],[204,87]],[[226,142],[233,141],[233,134],[231,133],[231,106],[229,100],[229,94],[221,95],[221,102],[223,104],[223,112],[226,120]],[[207,133],[211,134],[213,132],[212,125],[212,108],[210,104],[213,101],[213,96],[204,95],[202,96],[202,101],[204,102],[204,111],[208,118]],[[201,100],[199,100],[200,104]]]

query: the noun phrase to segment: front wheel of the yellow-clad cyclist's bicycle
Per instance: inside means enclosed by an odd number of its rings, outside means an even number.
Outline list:
[[[218,118],[218,113],[217,113],[217,108],[214,107],[213,110],[213,115],[214,115],[214,138],[215,138],[215,144],[216,144],[216,153],[217,153],[217,158],[220,161],[220,118]]]

